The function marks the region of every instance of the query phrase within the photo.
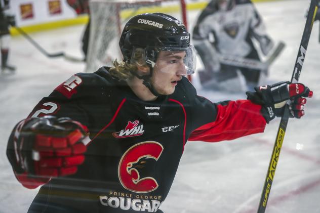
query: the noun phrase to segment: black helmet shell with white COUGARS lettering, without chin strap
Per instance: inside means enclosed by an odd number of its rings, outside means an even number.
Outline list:
[[[144,49],[146,63],[153,67],[158,51],[187,51],[190,48],[190,33],[181,21],[170,15],[145,13],[127,22],[119,47],[124,61],[131,60],[136,48]],[[188,71],[188,74],[194,72],[195,64],[191,67],[192,71]]]

